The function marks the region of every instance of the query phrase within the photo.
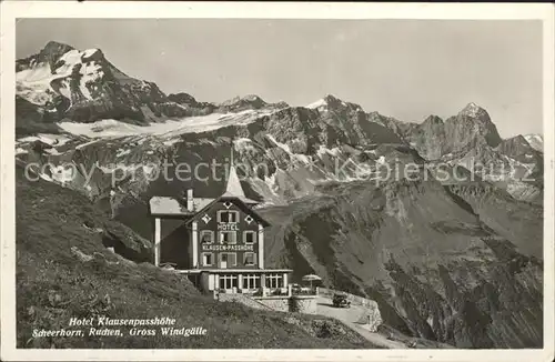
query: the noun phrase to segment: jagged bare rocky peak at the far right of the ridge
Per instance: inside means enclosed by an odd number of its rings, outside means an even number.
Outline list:
[[[420,124],[403,124],[381,115],[373,119],[397,133],[433,165],[462,167],[471,179],[494,182],[517,200],[541,202],[543,154],[522,135],[502,140],[490,114],[475,103],[468,103],[445,122],[436,115]]]

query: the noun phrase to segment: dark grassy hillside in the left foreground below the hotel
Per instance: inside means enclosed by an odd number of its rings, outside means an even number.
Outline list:
[[[125,227],[108,220],[80,194],[29,182],[21,172],[17,220],[19,348],[374,348],[346,328],[322,336],[326,331],[313,328],[316,316],[290,314],[295,325],[283,313],[215,302],[171,272],[113,254],[103,248],[102,232],[88,230],[83,222],[129,237]],[[94,258],[82,261],[72,247]],[[178,328],[203,326],[208,335],[31,338],[33,329],[68,329],[70,318],[93,315],[170,316]],[[339,326],[330,323],[331,330]]]

